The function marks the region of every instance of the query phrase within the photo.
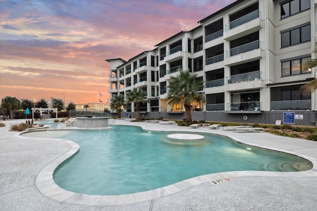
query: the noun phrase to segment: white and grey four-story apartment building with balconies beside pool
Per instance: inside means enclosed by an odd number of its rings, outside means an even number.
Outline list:
[[[139,87],[150,99],[144,118],[184,119],[182,105],[167,105],[166,87],[189,69],[205,83],[194,120],[275,124],[293,113],[296,125],[316,126],[317,90],[300,89],[317,78],[317,68],[303,67],[315,59],[316,7],[317,0],[237,0],[129,61],[106,60],[110,97]],[[133,115],[133,103],[126,111]]]

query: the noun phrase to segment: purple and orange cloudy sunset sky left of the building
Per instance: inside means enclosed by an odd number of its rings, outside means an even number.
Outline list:
[[[106,103],[105,59],[152,50],[234,1],[0,0],[0,98]]]

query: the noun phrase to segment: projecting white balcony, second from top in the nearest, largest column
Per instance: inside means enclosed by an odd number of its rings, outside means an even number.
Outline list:
[[[254,41],[226,50],[224,65],[232,66],[263,58],[261,42]]]

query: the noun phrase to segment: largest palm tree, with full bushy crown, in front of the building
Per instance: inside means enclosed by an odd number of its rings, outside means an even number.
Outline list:
[[[196,81],[196,77],[197,74],[190,73],[189,70],[180,70],[178,75],[169,78],[167,86],[167,104],[171,106],[183,104],[187,123],[193,122],[190,113],[191,103],[194,101],[206,102],[204,95],[198,92],[203,88],[204,83]]]

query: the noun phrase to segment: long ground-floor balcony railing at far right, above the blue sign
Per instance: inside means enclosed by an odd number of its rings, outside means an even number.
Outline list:
[[[312,109],[312,100],[271,101],[271,110],[307,110]]]

